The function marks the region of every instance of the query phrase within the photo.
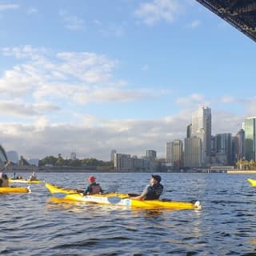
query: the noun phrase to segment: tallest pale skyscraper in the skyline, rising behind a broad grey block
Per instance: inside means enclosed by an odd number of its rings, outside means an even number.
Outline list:
[[[202,141],[202,166],[210,165],[211,110],[201,106],[192,114],[192,134]]]

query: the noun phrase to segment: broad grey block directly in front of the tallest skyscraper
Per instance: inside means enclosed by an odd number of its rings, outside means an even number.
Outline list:
[[[184,167],[202,166],[202,140],[198,137],[184,140]]]

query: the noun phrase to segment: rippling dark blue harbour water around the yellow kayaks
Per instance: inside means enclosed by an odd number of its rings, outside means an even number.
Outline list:
[[[38,178],[83,188],[88,175]],[[150,181],[150,174],[95,175],[118,192],[140,193]],[[30,194],[0,194],[0,255],[256,255],[256,187],[246,180],[254,175],[161,174],[162,198],[200,200],[202,210],[55,202],[44,184],[31,184]]]

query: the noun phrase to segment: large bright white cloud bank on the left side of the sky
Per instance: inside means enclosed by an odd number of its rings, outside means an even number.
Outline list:
[[[54,54],[32,46],[4,48],[2,54],[18,58],[20,62],[0,77],[0,99],[21,98],[23,101],[26,98],[33,102],[31,106],[34,104],[33,107],[13,108],[10,114],[17,111],[18,115],[30,116],[44,114],[47,108],[50,111],[61,110],[62,101],[74,105],[130,102],[162,94],[161,90],[156,93],[139,88],[126,89],[126,81],[114,79],[118,61],[105,55],[88,52]],[[41,102],[54,102],[54,105]]]

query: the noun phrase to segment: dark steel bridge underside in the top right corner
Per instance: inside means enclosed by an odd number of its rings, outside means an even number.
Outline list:
[[[256,42],[256,0],[196,0]]]

